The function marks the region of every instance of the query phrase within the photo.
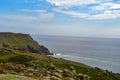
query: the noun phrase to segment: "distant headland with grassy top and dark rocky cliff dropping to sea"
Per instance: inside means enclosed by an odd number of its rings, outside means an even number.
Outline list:
[[[1,32],[0,47],[32,53],[50,54],[46,47],[39,45],[30,35],[21,33]]]

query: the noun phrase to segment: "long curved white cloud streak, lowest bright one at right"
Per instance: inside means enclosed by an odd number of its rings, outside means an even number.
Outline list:
[[[63,14],[70,15],[72,17],[77,17],[77,18],[85,18],[85,19],[114,19],[120,17],[120,10],[107,10],[104,11],[101,14],[95,14],[95,15],[90,15],[86,13],[80,13],[76,11],[63,11],[60,9],[54,9],[56,12],[60,12]]]

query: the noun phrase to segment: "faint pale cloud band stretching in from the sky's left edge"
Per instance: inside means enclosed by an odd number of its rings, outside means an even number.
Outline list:
[[[1,19],[15,20],[15,21],[48,21],[54,17],[53,13],[41,13],[39,15],[0,15]]]

